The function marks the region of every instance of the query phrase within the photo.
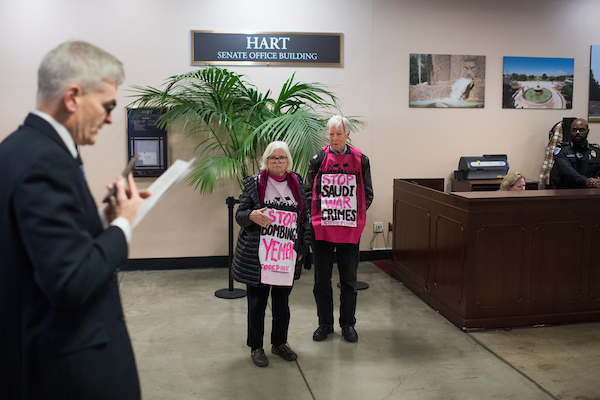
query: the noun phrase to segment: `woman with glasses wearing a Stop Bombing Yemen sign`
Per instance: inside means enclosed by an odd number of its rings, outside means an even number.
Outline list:
[[[300,277],[300,260],[310,243],[309,207],[302,178],[292,172],[285,142],[272,142],[261,172],[242,180],[244,190],[235,218],[241,226],[233,258],[233,276],[247,285],[250,355],[258,367],[269,360],[263,350],[265,309],[271,293],[271,352],[286,361],[297,358],[287,345],[288,298]]]

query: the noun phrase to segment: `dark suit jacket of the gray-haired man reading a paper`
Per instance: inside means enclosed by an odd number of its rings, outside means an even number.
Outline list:
[[[0,399],[140,397],[116,276],[126,259],[62,139],[27,116],[0,143]]]

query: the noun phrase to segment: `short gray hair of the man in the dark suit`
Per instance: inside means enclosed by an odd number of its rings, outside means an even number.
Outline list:
[[[54,100],[73,83],[84,93],[93,93],[103,81],[120,85],[124,79],[123,64],[116,57],[86,42],[65,42],[40,64],[37,101]]]

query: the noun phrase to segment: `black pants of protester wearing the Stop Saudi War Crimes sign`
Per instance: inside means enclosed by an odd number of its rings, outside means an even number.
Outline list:
[[[356,270],[358,269],[357,243],[331,243],[322,240],[312,242],[315,264],[315,287],[313,293],[317,302],[319,326],[333,328],[333,290],[331,274],[333,272],[333,253],[337,254],[340,272],[340,326],[354,326],[356,318]]]

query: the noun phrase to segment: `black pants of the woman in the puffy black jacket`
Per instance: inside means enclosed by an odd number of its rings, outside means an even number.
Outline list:
[[[269,291],[273,309],[271,344],[279,346],[287,343],[287,331],[290,325],[290,307],[288,300],[292,286],[271,286],[260,284],[258,287],[246,285],[248,293],[248,340],[252,350],[263,347],[265,333],[265,310]]]

